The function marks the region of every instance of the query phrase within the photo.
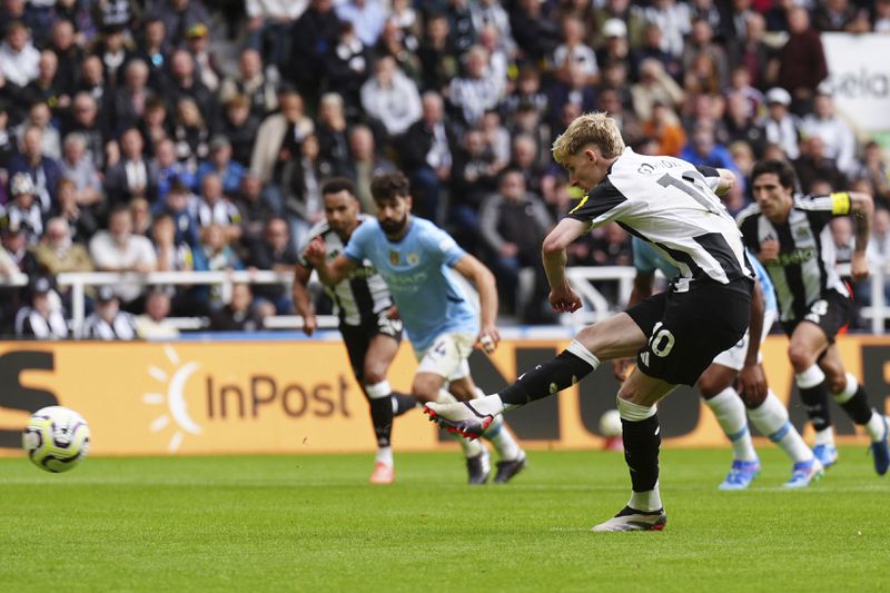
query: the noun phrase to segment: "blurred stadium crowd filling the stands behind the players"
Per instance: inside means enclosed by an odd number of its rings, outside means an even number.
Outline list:
[[[782,158],[801,191],[868,191],[872,260],[890,257],[886,154],[835,111],[819,36],[890,34],[890,0],[0,3],[0,280],[29,279],[0,287],[7,335],[70,337],[62,271],[289,270],[324,217],[324,180],[353,179],[369,211],[372,177],[396,169],[415,213],[493,269],[502,308],[550,323],[540,245],[577,197],[550,147],[593,110],[643,154],[741,179]],[[724,199],[734,214],[751,194]],[[570,257],[632,263],[617,225]],[[867,285],[856,293],[868,304]],[[293,313],[275,285],[230,302],[139,284],[89,297],[77,337]]]

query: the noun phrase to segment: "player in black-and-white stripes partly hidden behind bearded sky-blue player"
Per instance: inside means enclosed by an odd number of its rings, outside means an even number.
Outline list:
[[[308,241],[322,237],[327,247],[327,257],[334,258],[343,253],[353,231],[364,220],[364,215],[359,214],[355,187],[349,179],[328,180],[322,187],[322,196],[325,220],[309,231]],[[294,306],[303,316],[306,335],[312,335],[316,328],[315,312],[306,289],[312,271],[312,264],[300,254],[294,273]],[[386,373],[402,340],[402,320],[394,314],[386,283],[369,261],[365,261],[364,266],[356,268],[336,286],[325,286],[325,290],[336,306],[353,374],[370,404],[370,421],[377,437],[377,459],[370,481],[388,484],[395,475],[389,441],[393,417],[416,405],[413,396],[394,393],[386,380]]]

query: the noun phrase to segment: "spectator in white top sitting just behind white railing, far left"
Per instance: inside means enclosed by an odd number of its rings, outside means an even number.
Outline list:
[[[90,256],[99,271],[146,274],[158,265],[151,241],[132,233],[132,217],[126,205],[111,209],[108,230],[98,231],[90,240]],[[142,288],[137,281],[121,281],[115,291],[125,304],[134,305]]]

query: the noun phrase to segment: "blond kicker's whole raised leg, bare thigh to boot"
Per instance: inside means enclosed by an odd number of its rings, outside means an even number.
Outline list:
[[[449,432],[478,438],[498,414],[571,387],[595,370],[601,358],[635,355],[645,343],[640,326],[626,313],[620,313],[585,327],[558,356],[523,373],[500,393],[456,405],[427,404],[424,412]]]

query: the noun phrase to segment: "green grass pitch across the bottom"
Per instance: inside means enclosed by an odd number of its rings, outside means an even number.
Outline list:
[[[888,591],[890,476],[862,447],[807,491],[761,447],[723,493],[722,451],[662,452],[661,533],[589,530],[626,502],[623,458],[532,452],[469,487],[457,453],[89,458],[69,474],[0,459],[2,591]]]

